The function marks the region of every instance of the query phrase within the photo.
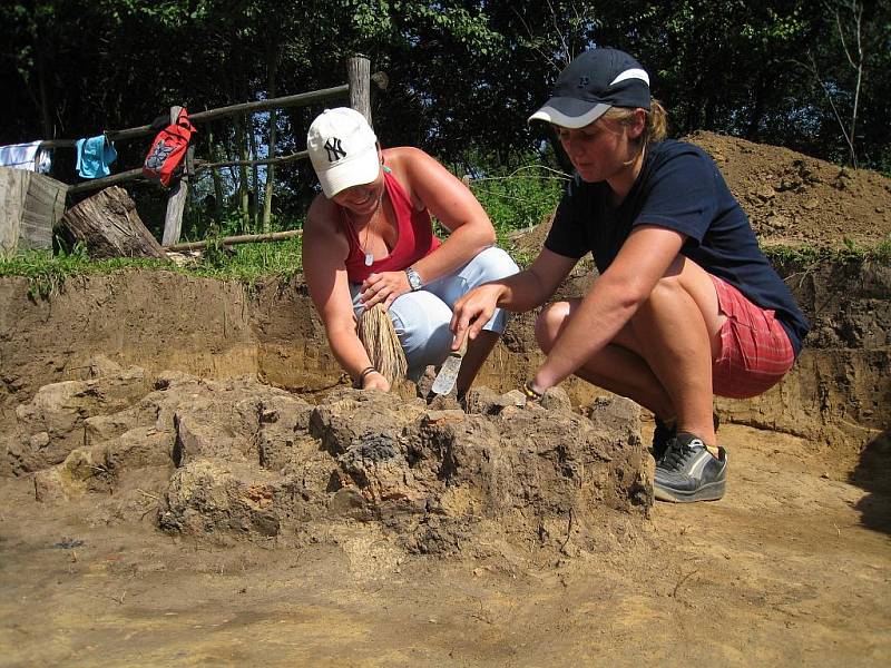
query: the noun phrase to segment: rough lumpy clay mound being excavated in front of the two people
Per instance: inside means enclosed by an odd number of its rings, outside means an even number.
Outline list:
[[[626,400],[586,418],[560,390],[527,405],[480,389],[464,412],[340,387],[312,406],[248,379],[102,374],[42,387],[3,439],[39,502],[80,504],[94,522],[149,514],[174,534],[284,546],[374,522],[414,553],[566,553],[652,505]]]

